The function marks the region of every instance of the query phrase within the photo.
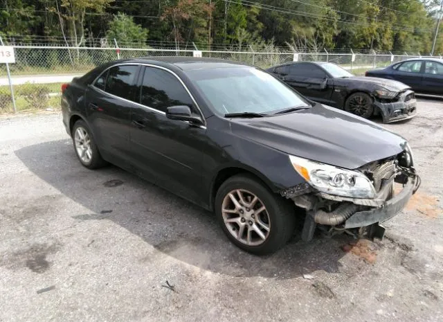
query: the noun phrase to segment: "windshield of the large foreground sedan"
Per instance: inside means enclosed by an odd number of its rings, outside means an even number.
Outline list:
[[[228,67],[186,71],[220,114],[273,114],[308,105],[272,75],[253,67]]]

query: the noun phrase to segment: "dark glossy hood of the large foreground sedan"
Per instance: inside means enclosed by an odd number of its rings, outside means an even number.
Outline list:
[[[406,145],[375,123],[320,104],[278,116],[232,118],[230,127],[235,136],[347,169],[399,154]]]

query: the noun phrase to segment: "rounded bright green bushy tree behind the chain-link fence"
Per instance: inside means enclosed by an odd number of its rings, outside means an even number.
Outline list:
[[[109,40],[117,39],[118,43],[131,46],[145,46],[148,30],[134,23],[132,17],[118,13],[109,23],[106,36]]]

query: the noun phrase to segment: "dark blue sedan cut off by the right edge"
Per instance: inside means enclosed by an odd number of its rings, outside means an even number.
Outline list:
[[[417,93],[443,95],[443,60],[413,58],[385,68],[367,71],[366,76],[398,80]]]

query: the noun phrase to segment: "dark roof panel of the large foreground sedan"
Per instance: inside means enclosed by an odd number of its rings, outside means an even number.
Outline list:
[[[186,57],[186,56],[153,56],[153,57],[136,57],[129,60],[120,60],[119,62],[136,62],[140,64],[165,64],[177,66],[183,71],[192,69],[215,69],[227,67],[245,67],[251,66],[242,62],[233,62],[232,60],[221,60],[208,57]],[[113,62],[114,64],[116,62]]]

